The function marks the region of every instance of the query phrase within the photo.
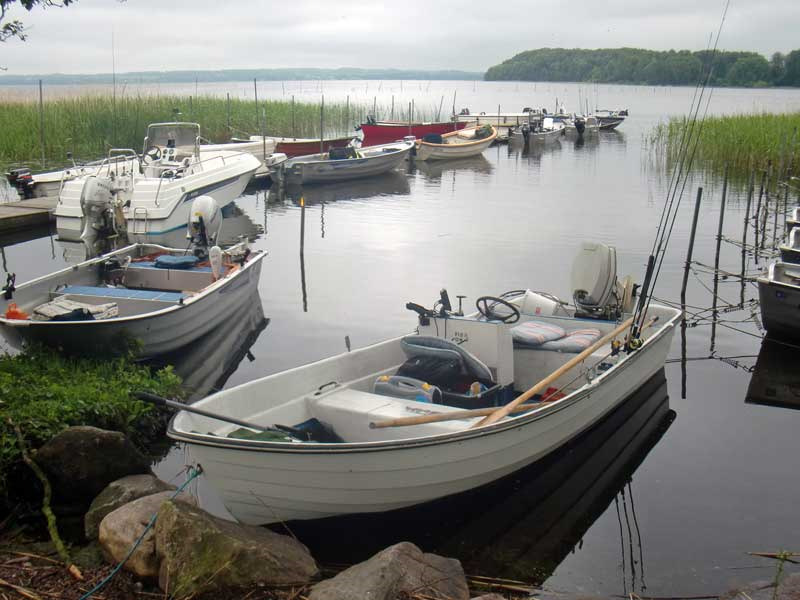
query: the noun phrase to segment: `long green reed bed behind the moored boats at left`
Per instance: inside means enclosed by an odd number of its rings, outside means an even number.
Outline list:
[[[372,105],[325,103],[325,136],[355,135]],[[407,107],[397,106],[395,118],[405,119]],[[389,117],[388,107],[378,106],[379,117]],[[420,118],[430,115],[418,114]],[[76,159],[93,160],[105,156],[108,149],[134,148],[141,152],[149,123],[193,121],[201,126],[203,137],[213,142],[250,133],[319,137],[320,104],[292,103],[283,100],[260,101],[216,96],[76,96],[44,103],[0,99],[0,164],[37,164],[42,145],[40,118],[44,118],[45,157],[47,163],[63,164],[66,153]]]

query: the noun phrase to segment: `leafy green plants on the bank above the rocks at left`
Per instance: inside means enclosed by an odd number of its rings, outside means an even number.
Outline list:
[[[19,500],[32,480],[9,419],[32,449],[71,425],[121,431],[145,448],[163,437],[167,416],[132,399],[139,389],[176,395],[180,379],[171,368],[153,372],[127,358],[66,358],[46,349],[0,356],[0,506]]]

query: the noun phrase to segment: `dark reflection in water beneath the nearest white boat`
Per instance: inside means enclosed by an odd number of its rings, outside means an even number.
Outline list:
[[[322,562],[357,562],[407,540],[457,557],[467,573],[538,585],[618,496],[625,501],[633,473],[674,418],[662,369],[591,430],[494,484],[411,509],[289,527]]]

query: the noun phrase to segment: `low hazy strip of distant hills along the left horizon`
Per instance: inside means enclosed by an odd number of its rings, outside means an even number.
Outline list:
[[[117,73],[117,82],[130,83],[194,83],[216,81],[292,81],[335,79],[483,79],[483,73],[469,71],[422,71],[414,69],[225,69],[221,71],[142,71]],[[32,85],[42,80],[51,85],[111,83],[111,73],[50,75],[3,75],[0,85]]]

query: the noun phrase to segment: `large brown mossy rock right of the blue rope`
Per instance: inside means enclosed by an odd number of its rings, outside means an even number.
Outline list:
[[[158,584],[174,598],[253,585],[307,583],[317,572],[308,549],[268,529],[239,525],[166,502],[156,522]]]

